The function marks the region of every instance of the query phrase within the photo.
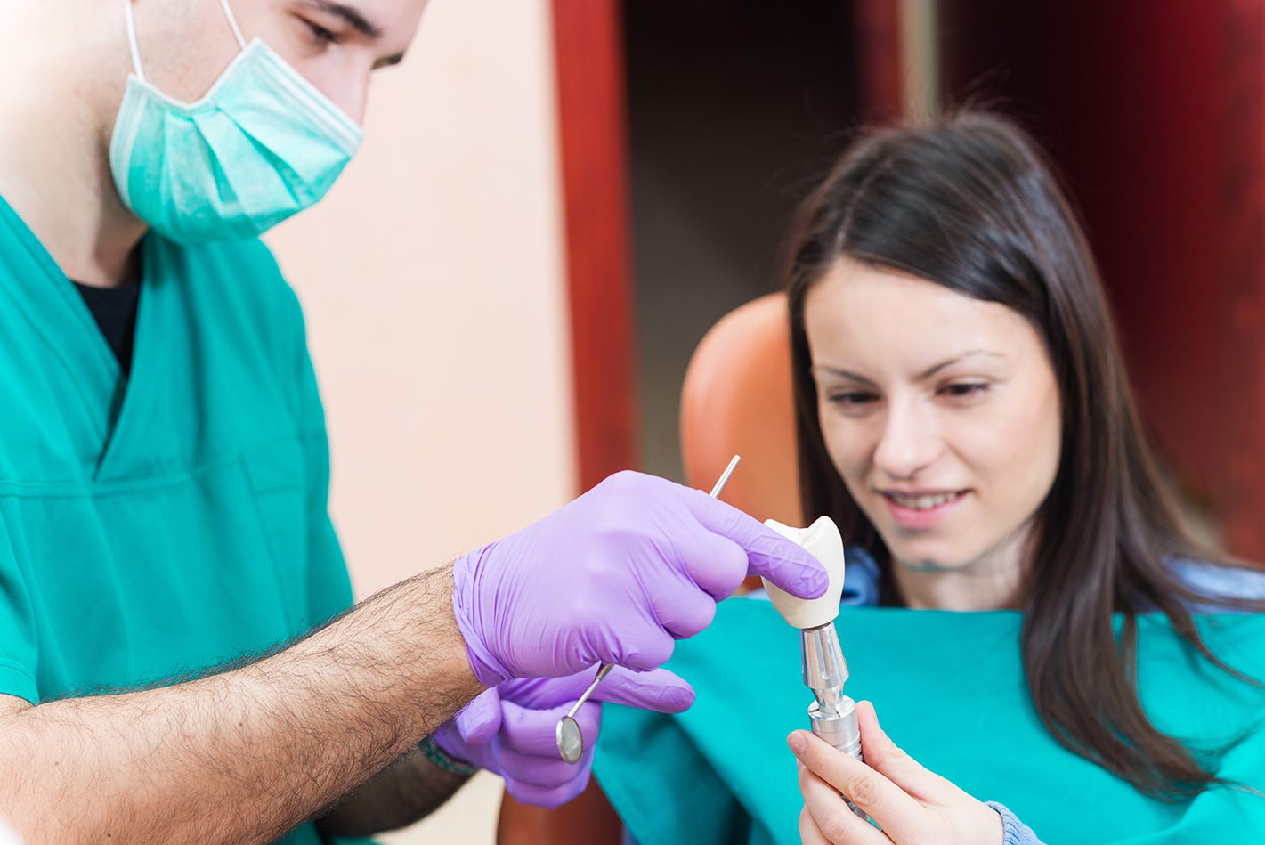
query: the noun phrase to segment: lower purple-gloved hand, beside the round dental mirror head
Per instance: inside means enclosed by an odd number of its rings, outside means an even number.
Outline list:
[[[435,731],[449,756],[500,774],[510,794],[524,803],[558,807],[584,791],[601,729],[600,701],[677,713],[694,701],[689,684],[667,669],[630,672],[615,667],[576,712],[584,754],[571,765],[558,756],[555,729],[593,682],[591,667],[565,678],[509,681],[486,691]]]

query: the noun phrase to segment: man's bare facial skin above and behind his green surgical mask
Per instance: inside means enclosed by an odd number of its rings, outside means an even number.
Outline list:
[[[369,73],[404,57],[425,5],[426,0],[229,0],[247,43],[262,39],[357,123],[364,119]],[[239,52],[219,0],[137,0],[135,18],[145,75],[177,100],[206,94]]]

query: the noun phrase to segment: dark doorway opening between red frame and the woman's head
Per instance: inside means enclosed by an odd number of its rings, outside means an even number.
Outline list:
[[[851,3],[624,8],[641,468],[681,479],[686,364],[777,286],[796,202],[858,114]]]

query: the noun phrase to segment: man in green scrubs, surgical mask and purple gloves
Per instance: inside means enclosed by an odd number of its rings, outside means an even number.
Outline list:
[[[257,235],[355,153],[424,5],[0,6],[0,818],[29,845],[347,841],[476,767],[557,805],[595,664],[607,701],[682,710],[658,667],[745,576],[825,589],[739,511],[621,473],[352,606]]]

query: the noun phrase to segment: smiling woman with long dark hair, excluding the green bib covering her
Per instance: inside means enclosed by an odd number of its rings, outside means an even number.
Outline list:
[[[1260,610],[1265,577],[1179,527],[1093,259],[1032,142],[969,113],[863,137],[801,210],[787,292],[805,522],[839,524],[854,601],[1022,610],[1032,701],[1059,741],[1147,794],[1209,786],[1141,710],[1133,615],[1165,614],[1219,664],[1192,611]],[[870,765],[791,737],[805,841],[1036,841],[896,751],[865,702],[859,716]],[[851,797],[882,831],[839,794],[863,782]],[[502,821],[593,841],[600,803],[593,787]]]

